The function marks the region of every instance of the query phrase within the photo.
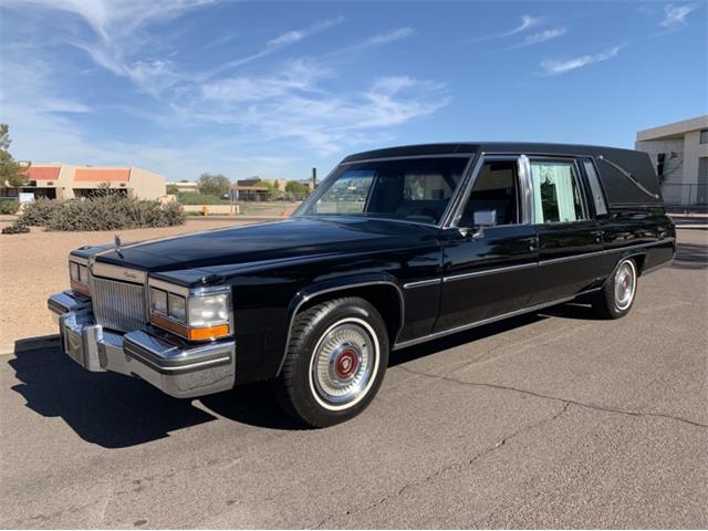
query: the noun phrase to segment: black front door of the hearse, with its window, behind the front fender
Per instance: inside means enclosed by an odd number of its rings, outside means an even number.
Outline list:
[[[444,231],[444,282],[435,332],[465,326],[524,308],[534,287],[537,229],[523,216],[528,189],[517,157],[485,157],[457,228]],[[496,223],[475,227],[475,212]]]

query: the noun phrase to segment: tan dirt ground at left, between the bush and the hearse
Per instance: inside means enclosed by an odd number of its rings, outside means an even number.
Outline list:
[[[0,219],[0,227],[10,222]],[[113,241],[124,243],[150,238],[254,222],[228,218],[189,219],[181,227],[101,232],[45,232],[0,235],[0,354],[12,352],[14,342],[56,333],[46,296],[69,288],[69,251],[81,246]]]

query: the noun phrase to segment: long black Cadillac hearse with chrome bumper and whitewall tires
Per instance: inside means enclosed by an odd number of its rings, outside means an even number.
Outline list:
[[[282,221],[72,251],[49,308],[88,371],[176,397],[271,379],[327,426],[397,350],[579,295],[622,317],[675,247],[645,154],[406,146],[345,158]]]

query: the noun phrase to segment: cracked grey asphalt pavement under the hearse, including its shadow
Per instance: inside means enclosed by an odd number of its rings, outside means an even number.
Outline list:
[[[708,231],[632,313],[566,304],[396,353],[361,417],[176,400],[0,357],[2,528],[706,528]]]

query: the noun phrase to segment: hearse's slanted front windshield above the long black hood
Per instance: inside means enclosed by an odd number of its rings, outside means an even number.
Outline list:
[[[465,156],[345,164],[294,216],[369,216],[437,225],[467,162]]]

